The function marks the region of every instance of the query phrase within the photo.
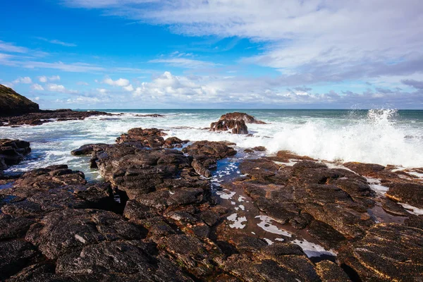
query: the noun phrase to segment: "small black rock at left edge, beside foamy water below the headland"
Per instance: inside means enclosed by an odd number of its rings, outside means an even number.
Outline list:
[[[30,142],[0,139],[0,171],[7,169],[8,166],[19,164],[30,152]]]

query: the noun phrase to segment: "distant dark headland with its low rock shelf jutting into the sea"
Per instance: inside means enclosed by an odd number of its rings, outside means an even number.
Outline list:
[[[110,116],[102,111],[71,109],[40,110],[38,104],[0,85],[0,126],[42,125],[52,121],[71,121],[90,116]]]

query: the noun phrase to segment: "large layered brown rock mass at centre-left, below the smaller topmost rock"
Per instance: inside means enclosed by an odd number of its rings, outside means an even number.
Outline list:
[[[123,143],[94,154],[102,176],[130,199],[161,188],[207,189],[207,181],[190,166],[190,157],[175,149],[135,149]]]

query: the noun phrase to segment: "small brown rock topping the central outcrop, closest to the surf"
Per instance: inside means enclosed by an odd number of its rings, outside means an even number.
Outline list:
[[[121,135],[116,140],[117,143],[131,143],[131,142],[138,142],[142,146],[151,147],[151,148],[159,148],[164,145],[163,136],[167,134],[163,132],[161,129],[157,128],[132,128],[128,130],[128,133]]]

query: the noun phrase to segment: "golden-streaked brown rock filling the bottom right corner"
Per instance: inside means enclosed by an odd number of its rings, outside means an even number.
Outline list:
[[[423,276],[423,230],[380,223],[338,254],[361,281],[418,281]]]

